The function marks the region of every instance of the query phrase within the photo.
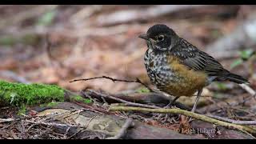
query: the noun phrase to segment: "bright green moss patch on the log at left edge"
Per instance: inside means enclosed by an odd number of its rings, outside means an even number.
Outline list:
[[[54,85],[22,84],[0,81],[0,101],[12,106],[63,102],[64,90]]]

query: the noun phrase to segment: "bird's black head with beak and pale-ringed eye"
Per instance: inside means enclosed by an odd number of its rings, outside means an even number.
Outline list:
[[[139,38],[146,39],[147,46],[154,50],[170,50],[178,41],[178,35],[174,30],[163,24],[151,26],[146,34],[140,34]]]

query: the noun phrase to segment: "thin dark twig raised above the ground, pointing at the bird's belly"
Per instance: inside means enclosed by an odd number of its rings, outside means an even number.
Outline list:
[[[146,86],[146,84],[143,83],[143,82],[142,82],[141,80],[139,80],[138,78],[136,78],[136,80],[126,80],[126,79],[110,78],[110,77],[108,77],[108,76],[103,75],[102,77],[74,79],[73,81],[70,81],[70,82],[89,81],[89,80],[98,79],[98,78],[110,79],[110,80],[113,81],[113,82],[137,82],[137,83],[140,83],[140,84],[142,84],[143,86],[145,86],[148,90],[154,91],[154,90],[150,89],[149,86]]]

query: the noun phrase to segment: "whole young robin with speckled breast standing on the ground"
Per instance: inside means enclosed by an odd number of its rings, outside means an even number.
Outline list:
[[[171,104],[181,96],[190,97],[198,92],[191,110],[194,112],[202,88],[211,82],[249,83],[246,78],[224,69],[216,59],[180,38],[166,25],[154,25],[138,37],[145,39],[148,47],[144,63],[150,82],[175,97]]]

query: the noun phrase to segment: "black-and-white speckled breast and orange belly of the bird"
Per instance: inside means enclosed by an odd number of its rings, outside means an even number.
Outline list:
[[[168,94],[191,96],[206,86],[206,74],[190,70],[171,54],[148,49],[144,60],[150,81]]]

